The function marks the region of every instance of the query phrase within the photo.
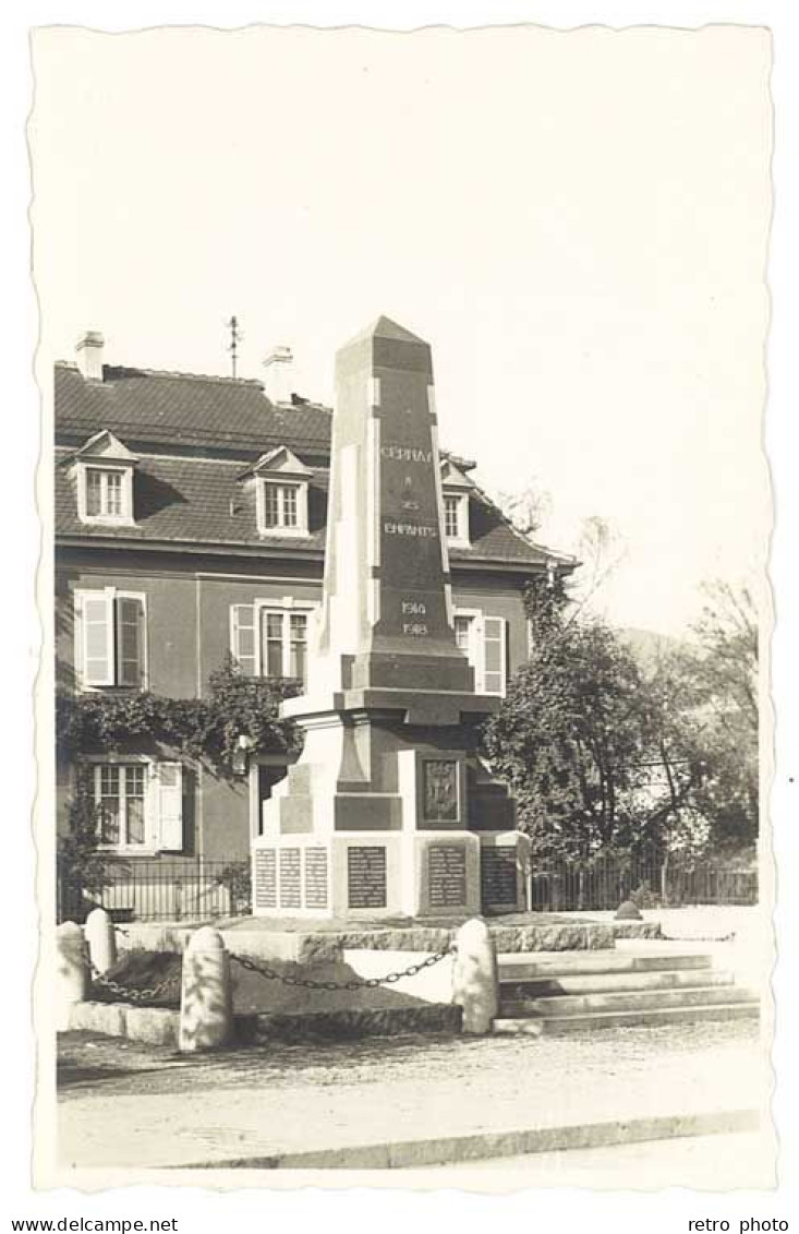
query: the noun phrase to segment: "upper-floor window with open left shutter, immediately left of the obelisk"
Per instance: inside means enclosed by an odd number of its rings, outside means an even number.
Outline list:
[[[233,605],[231,652],[248,676],[297,677],[308,669],[307,608],[276,608],[256,601]]]

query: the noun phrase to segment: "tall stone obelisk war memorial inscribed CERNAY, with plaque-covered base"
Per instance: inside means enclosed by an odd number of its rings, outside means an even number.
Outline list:
[[[455,643],[441,505],[430,348],[381,317],[337,358],[322,613],[307,694],[284,703],[305,747],[264,808],[255,913],[475,912],[481,849],[522,900],[527,842],[476,755],[497,700]]]

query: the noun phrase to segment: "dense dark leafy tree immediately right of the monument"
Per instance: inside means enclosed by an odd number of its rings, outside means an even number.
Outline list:
[[[628,848],[646,731],[640,671],[598,618],[570,619],[561,579],[528,589],[529,661],[483,729],[485,752],[510,785],[539,855]]]

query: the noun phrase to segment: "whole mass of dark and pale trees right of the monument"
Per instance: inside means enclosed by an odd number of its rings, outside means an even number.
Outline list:
[[[528,590],[531,652],[483,731],[540,858],[652,845],[697,860],[757,835],[757,623],[715,584],[693,645],[647,670],[560,578]]]

